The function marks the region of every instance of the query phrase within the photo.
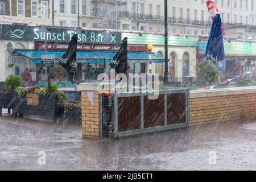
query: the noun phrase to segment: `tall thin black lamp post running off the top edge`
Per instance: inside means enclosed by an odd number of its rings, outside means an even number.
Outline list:
[[[164,0],[164,85],[168,84],[168,4]]]

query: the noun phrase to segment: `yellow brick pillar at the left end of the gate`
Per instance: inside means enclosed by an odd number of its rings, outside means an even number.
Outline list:
[[[94,92],[92,106],[88,92],[92,91],[82,91],[82,138],[100,138],[100,94]]]

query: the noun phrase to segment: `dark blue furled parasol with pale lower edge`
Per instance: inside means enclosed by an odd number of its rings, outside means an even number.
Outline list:
[[[209,60],[212,60],[213,62],[218,61],[218,66],[220,67],[221,71],[225,72],[226,59],[221,30],[221,18],[219,13],[216,13],[214,16],[207,44],[207,50],[205,52],[205,61]]]

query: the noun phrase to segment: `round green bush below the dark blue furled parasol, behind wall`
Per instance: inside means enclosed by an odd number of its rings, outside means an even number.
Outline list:
[[[218,82],[218,63],[212,61],[203,62],[199,65],[199,78],[200,81],[205,82],[207,85],[213,85]]]

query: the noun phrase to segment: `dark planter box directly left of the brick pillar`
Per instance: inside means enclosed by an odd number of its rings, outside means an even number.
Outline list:
[[[69,109],[66,113],[61,114],[64,123],[81,124],[82,115],[78,108]]]

